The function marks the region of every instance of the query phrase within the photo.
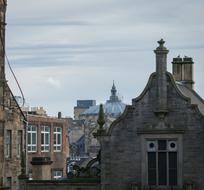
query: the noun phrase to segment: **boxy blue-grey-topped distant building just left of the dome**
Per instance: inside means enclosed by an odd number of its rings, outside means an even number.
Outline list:
[[[78,120],[81,113],[95,105],[96,100],[77,100],[77,106],[74,107],[74,119]]]

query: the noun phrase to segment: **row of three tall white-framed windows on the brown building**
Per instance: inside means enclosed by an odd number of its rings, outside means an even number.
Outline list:
[[[28,126],[28,152],[37,152],[37,126]],[[54,127],[53,131],[54,152],[60,152],[62,149],[62,128]],[[41,126],[41,152],[50,151],[50,127]]]

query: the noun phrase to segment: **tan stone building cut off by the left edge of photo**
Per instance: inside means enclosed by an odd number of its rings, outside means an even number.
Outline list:
[[[5,77],[6,0],[0,0],[0,189],[18,189],[25,173],[26,118]]]

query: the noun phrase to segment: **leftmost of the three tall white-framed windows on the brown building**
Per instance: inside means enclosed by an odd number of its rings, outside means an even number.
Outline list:
[[[37,151],[37,126],[28,126],[28,152]]]

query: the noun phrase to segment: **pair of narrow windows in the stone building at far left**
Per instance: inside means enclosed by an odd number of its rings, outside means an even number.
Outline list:
[[[21,152],[22,152],[22,143],[23,143],[23,135],[22,135],[22,130],[18,130],[17,131],[17,138],[16,138],[16,142],[14,142],[14,144],[16,144],[17,146],[17,154],[16,156],[18,158],[20,158],[21,156]],[[6,158],[11,158],[12,157],[12,130],[6,130],[6,147],[5,147],[5,157]]]

